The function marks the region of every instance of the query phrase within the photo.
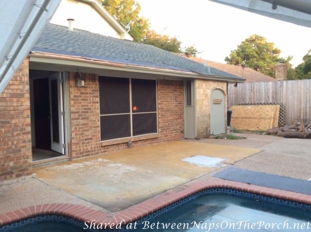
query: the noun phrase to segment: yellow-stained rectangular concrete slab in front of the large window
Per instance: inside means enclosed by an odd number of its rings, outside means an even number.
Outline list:
[[[36,167],[34,172],[42,182],[119,211],[217,169],[182,159],[206,155],[233,164],[259,151],[182,140]]]

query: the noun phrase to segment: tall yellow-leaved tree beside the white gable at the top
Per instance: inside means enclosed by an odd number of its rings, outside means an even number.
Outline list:
[[[149,29],[149,22],[139,16],[141,7],[136,0],[103,0],[102,4],[119,23],[124,26],[129,24],[129,34],[135,41],[142,41]]]

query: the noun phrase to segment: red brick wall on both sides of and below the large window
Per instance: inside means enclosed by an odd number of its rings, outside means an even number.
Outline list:
[[[100,142],[98,76],[82,74],[85,86],[75,86],[76,73],[69,73],[71,158],[128,149],[127,143],[103,146]],[[132,147],[184,138],[184,90],[181,81],[157,81],[158,133],[156,138],[133,141]]]

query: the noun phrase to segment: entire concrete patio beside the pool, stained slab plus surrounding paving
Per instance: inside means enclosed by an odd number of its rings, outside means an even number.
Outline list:
[[[238,135],[247,139],[183,140],[38,167],[36,178],[0,188],[0,213],[51,202],[118,211],[183,183],[214,179],[212,175],[227,166],[311,178],[310,140]],[[222,157],[227,166],[210,168],[181,161],[197,154]]]

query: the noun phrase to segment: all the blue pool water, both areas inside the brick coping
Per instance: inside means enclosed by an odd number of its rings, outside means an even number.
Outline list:
[[[244,221],[244,222],[243,222]],[[137,232],[311,231],[311,210],[275,205],[228,195],[205,195],[157,216],[142,220]],[[175,223],[175,224],[173,224]],[[177,225],[179,223],[179,227]],[[255,223],[255,224],[253,224]],[[296,224],[295,224],[296,223]],[[218,228],[216,228],[218,225]],[[252,225],[254,229],[252,230]],[[299,225],[300,228],[297,226]],[[35,222],[14,232],[88,232],[68,222]],[[154,229],[151,229],[153,226]],[[295,226],[295,228],[294,228]],[[133,225],[134,227],[134,225]],[[309,227],[309,229],[308,229]],[[1,230],[0,230],[1,231]]]

